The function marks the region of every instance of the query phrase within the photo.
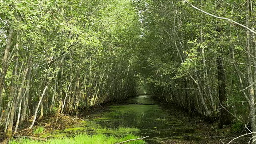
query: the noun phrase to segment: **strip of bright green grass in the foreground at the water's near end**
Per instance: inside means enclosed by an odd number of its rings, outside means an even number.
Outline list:
[[[88,135],[88,134],[79,134],[72,138],[54,138],[47,141],[40,140],[31,140],[27,138],[22,138],[19,140],[12,140],[9,144],[115,144],[125,140],[139,138],[132,134],[128,134],[123,137],[117,136],[106,136],[104,134]],[[127,142],[126,144],[146,144],[144,140],[135,140]]]

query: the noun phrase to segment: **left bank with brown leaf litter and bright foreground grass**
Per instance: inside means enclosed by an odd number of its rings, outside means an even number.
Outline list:
[[[120,129],[123,132],[119,135],[112,135],[103,131],[93,132],[92,129],[94,128],[86,130],[80,127],[86,125],[86,121],[100,118],[100,115],[107,111],[107,107],[97,106],[86,112],[81,111],[77,115],[56,114],[47,116],[37,122],[29,132],[20,129],[13,140],[3,141],[0,144],[116,144],[140,138],[132,134],[133,130],[128,128]],[[135,140],[130,141],[130,144],[145,144],[145,141]]]

